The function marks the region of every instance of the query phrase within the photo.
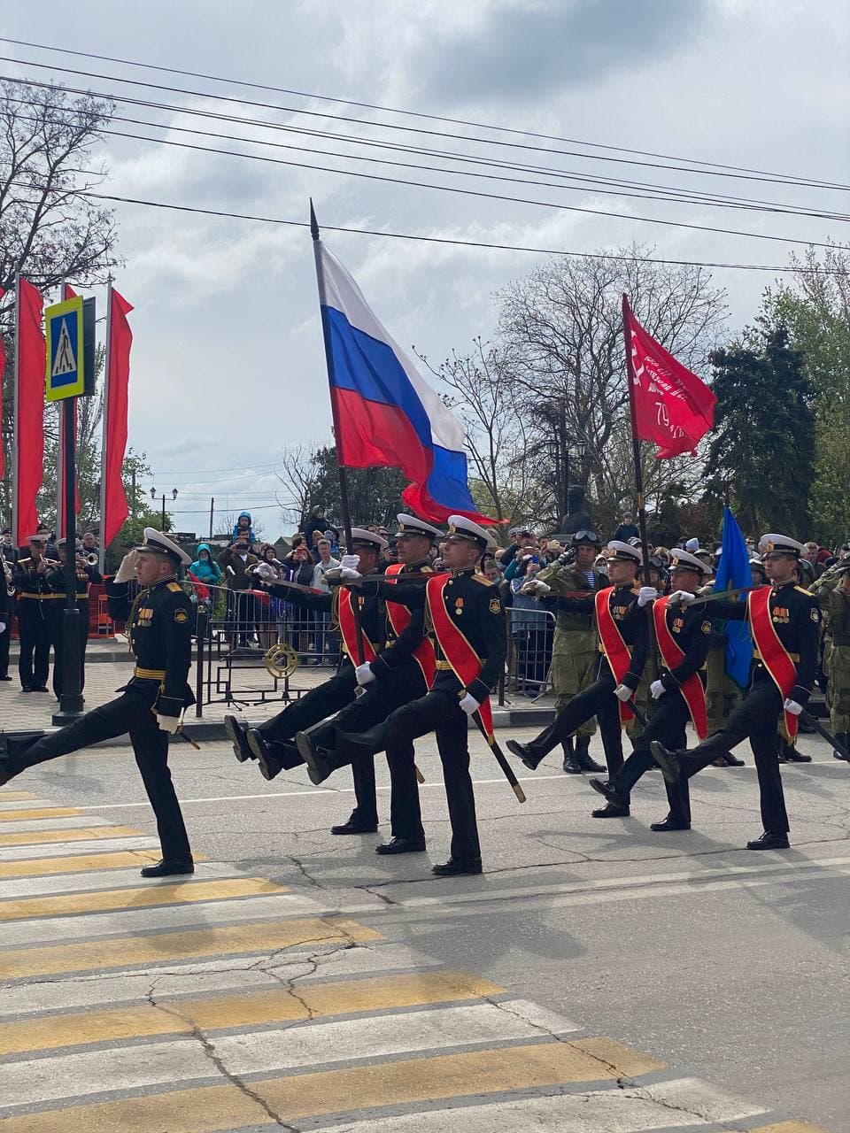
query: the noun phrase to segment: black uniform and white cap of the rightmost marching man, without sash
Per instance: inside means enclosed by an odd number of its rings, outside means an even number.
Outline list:
[[[788,536],[765,536],[770,554],[799,555],[802,545]],[[764,540],[763,540],[764,542]],[[749,617],[749,604],[743,602],[712,603],[719,614],[730,621]],[[719,608],[716,608],[719,607]],[[771,624],[796,666],[796,683],[788,699],[805,707],[811,695],[817,668],[821,633],[821,612],[817,599],[793,580],[773,585],[768,596]],[[669,781],[680,775],[689,778],[704,767],[726,755],[742,740],[748,739],[758,773],[762,821],[765,833],[747,843],[750,850],[784,849],[788,846],[788,813],[782,792],[782,776],[776,753],[776,724],[783,710],[783,696],[765,662],[755,654],[749,690],[743,700],[732,709],[723,727],[709,735],[692,751],[671,751],[663,743],[653,743],[652,752]]]

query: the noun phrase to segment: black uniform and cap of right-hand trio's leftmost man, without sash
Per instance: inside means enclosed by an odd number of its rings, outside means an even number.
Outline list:
[[[613,544],[609,544],[610,547]],[[628,544],[618,543],[615,557],[620,561],[640,562],[640,551],[630,547]],[[640,676],[648,654],[648,628],[645,613],[641,611],[639,617],[632,616],[636,590],[631,582],[611,588],[607,597],[607,606],[626,646],[629,649],[629,667],[622,679],[622,683],[636,691],[640,684]],[[558,610],[563,610],[573,614],[594,614],[595,598],[564,598],[553,599]],[[620,701],[614,695],[617,680],[609,664],[607,657],[600,645],[600,662],[596,668],[596,680],[577,696],[575,696],[560,716],[556,716],[549,727],[544,729],[539,735],[528,743],[520,743],[517,740],[509,740],[507,747],[522,763],[534,769],[545,756],[549,755],[559,743],[580,727],[585,721],[595,716],[602,733],[602,743],[605,750],[605,763],[607,764],[609,778],[613,778],[623,765],[622,758],[622,727],[620,723]],[[620,817],[620,813],[628,815],[628,808],[620,810],[611,807],[602,811],[594,811],[596,818]]]

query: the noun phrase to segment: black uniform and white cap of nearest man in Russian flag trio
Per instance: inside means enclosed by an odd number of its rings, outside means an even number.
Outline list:
[[[482,551],[490,545],[487,534],[471,520],[451,516],[449,525],[449,537],[469,539]],[[423,588],[413,582],[389,583],[365,578],[358,585],[368,594],[390,600],[400,598],[408,608],[420,608],[427,613],[427,583]],[[475,794],[469,775],[469,719],[460,702],[468,696],[482,704],[504,671],[504,613],[499,591],[475,566],[452,571],[443,595],[449,616],[462,631],[481,663],[478,676],[466,685],[460,682],[447,657],[440,628],[426,617],[424,628],[436,655],[436,673],[431,691],[397,708],[383,723],[366,731],[338,731],[335,750],[318,752],[320,758],[311,768],[311,778],[326,777],[346,764],[354,763],[356,766],[363,757],[411,743],[435,731],[452,837],[449,861],[444,866],[435,866],[434,872],[476,874],[482,867]]]

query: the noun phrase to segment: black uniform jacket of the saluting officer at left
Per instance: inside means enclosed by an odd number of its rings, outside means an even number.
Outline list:
[[[136,675],[125,689],[142,684],[150,692],[151,683],[155,682],[156,712],[161,716],[179,716],[184,708],[195,704],[187,682],[192,664],[192,603],[173,579],[139,590],[131,604],[127,590],[127,582],[107,582],[109,615],[127,622],[127,636],[136,655]]]

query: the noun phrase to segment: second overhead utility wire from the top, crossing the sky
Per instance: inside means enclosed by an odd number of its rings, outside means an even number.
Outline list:
[[[462,142],[478,142],[484,145],[491,145],[491,146],[493,145],[508,146],[509,148],[513,150],[526,150],[539,153],[555,153],[572,157],[584,157],[589,161],[606,161],[626,165],[643,165],[652,169],[679,169],[686,172],[700,173],[707,177],[732,177],[739,180],[742,179],[742,180],[757,180],[757,181],[766,180],[766,181],[772,181],[774,184],[776,182],[793,184],[811,188],[844,189],[844,190],[850,189],[850,186],[834,184],[825,180],[806,179],[799,177],[785,177],[773,173],[765,173],[760,171],[758,173],[723,172],[721,170],[713,170],[713,169],[696,169],[694,167],[688,167],[688,165],[662,164],[660,162],[636,161],[634,159],[626,159],[626,157],[607,157],[607,156],[602,156],[600,154],[586,154],[571,150],[556,150],[552,148],[551,146],[526,145],[516,142],[501,142],[501,140],[494,140],[493,138],[481,138],[481,137],[471,137],[469,135],[452,134],[447,130],[431,130],[431,129],[424,129],[422,127],[388,125],[384,122],[375,122],[372,119],[367,118],[355,118],[350,114],[331,114],[328,113],[326,111],[303,110],[299,107],[284,107],[280,105],[279,103],[260,102],[252,99],[235,99],[232,96],[222,94],[211,94],[209,91],[193,91],[186,87],[168,86],[163,83],[145,83],[142,79],[122,78],[119,75],[104,75],[102,71],[87,71],[75,67],[60,67],[59,65],[56,63],[40,63],[35,62],[34,60],[16,59],[12,56],[0,56],[0,61],[15,63],[16,66],[20,67],[37,67],[42,70],[62,71],[63,74],[68,75],[80,75],[84,78],[107,79],[108,82],[111,83],[121,83],[130,86],[141,86],[153,91],[167,91],[171,94],[189,95],[190,97],[196,97],[196,99],[211,99],[216,102],[228,102],[231,104],[237,103],[245,107],[254,107],[262,110],[274,110],[282,113],[303,114],[305,117],[311,117],[311,118],[322,118],[322,119],[330,118],[335,121],[355,122],[359,126],[369,126],[373,129],[400,130],[409,134],[425,134],[433,137],[453,138],[454,140],[459,139]]]

